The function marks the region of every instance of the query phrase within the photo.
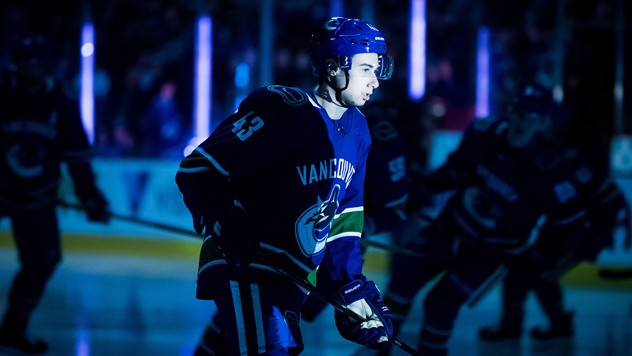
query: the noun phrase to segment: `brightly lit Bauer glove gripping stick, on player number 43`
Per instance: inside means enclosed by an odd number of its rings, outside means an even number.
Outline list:
[[[375,283],[362,276],[345,284],[340,296],[349,310],[367,320],[358,322],[336,310],[334,319],[341,336],[374,350],[386,348],[393,333],[391,310],[382,302]]]

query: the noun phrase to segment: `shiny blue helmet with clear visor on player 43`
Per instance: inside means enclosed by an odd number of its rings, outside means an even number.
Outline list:
[[[377,53],[375,76],[389,79],[393,70],[392,56],[386,53],[386,41],[380,31],[359,18],[332,17],[320,23],[310,39],[310,61],[314,75],[325,70],[325,60],[334,58],[339,67],[348,71],[351,57],[358,53]]]

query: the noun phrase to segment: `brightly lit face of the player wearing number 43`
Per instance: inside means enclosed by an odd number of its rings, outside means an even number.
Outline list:
[[[362,106],[371,98],[373,89],[380,85],[375,77],[378,65],[377,53],[353,55],[349,69],[349,85],[342,92],[343,103],[348,106]],[[344,75],[341,77],[344,80]]]

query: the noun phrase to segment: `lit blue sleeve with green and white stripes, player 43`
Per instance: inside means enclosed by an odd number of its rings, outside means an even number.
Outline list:
[[[325,256],[319,267],[319,283],[324,279],[325,289],[357,279],[362,274],[360,237],[364,224],[363,188],[367,155],[368,148],[332,221]]]

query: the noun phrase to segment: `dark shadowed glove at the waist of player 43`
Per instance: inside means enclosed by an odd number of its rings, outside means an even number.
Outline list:
[[[216,215],[212,217],[212,215]],[[205,235],[212,234],[227,264],[249,265],[259,246],[246,211],[238,200],[228,200],[216,214],[203,216]]]

